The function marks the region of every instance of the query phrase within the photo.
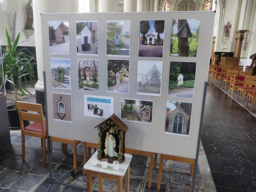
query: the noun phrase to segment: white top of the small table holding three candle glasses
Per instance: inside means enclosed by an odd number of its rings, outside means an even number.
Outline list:
[[[132,160],[132,155],[131,154],[124,154],[125,160],[124,163],[119,164],[119,170],[114,171],[113,170],[113,164],[108,163],[108,167],[106,169],[101,168],[101,161],[98,161],[98,164],[96,166],[92,166],[92,158],[96,157],[97,158],[98,151],[96,151],[92,157],[86,162],[84,165],[85,170],[90,170],[90,171],[96,171],[96,172],[101,172],[101,173],[107,173],[107,174],[112,174],[112,175],[117,175],[117,176],[124,176],[125,172],[130,165],[130,162]]]

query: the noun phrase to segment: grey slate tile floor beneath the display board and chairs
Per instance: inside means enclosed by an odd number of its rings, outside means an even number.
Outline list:
[[[8,93],[8,99],[12,93]],[[10,97],[10,98],[9,98]],[[29,102],[35,102],[33,95],[23,98]],[[9,102],[13,102],[10,100]],[[36,191],[44,192],[49,186],[48,166],[42,165],[41,141],[34,137],[25,137],[26,160],[21,160],[21,136],[20,130],[11,131],[12,150],[0,152],[0,192],[25,192]],[[68,153],[61,152],[61,144],[53,142],[52,156],[53,178],[60,177],[63,173],[72,169],[73,148],[68,146]],[[83,145],[77,147],[78,171],[73,177],[67,175],[62,181],[80,186],[86,186],[86,176],[82,174],[83,164]],[[159,164],[159,157],[158,157]],[[160,191],[188,192],[191,177],[189,176],[190,165],[174,161],[164,161],[162,172],[162,184]],[[201,184],[201,175],[197,171],[196,192],[203,192]],[[151,192],[156,191],[156,182],[158,178],[158,165],[153,170],[152,188],[148,188],[149,158],[133,155],[130,169],[130,191]],[[98,180],[93,180],[93,189],[98,190]],[[116,182],[104,180],[105,191],[116,191]],[[63,185],[53,184],[50,191],[84,191],[78,188],[65,187]]]

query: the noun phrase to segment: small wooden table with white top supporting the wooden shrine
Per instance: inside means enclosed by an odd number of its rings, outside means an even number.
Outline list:
[[[125,192],[129,192],[129,180],[130,180],[130,162],[132,159],[131,154],[124,154],[125,161],[119,164],[119,170],[113,170],[113,164],[108,163],[108,168],[101,168],[101,161],[98,160],[96,166],[92,166],[92,158],[97,157],[98,152],[95,152],[92,157],[84,165],[86,170],[86,187],[87,192],[92,192],[92,177],[98,177],[99,180],[99,192],[103,192],[103,179],[117,181],[117,192],[122,192],[123,177],[125,176]]]

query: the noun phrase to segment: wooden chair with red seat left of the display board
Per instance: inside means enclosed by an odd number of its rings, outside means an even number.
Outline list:
[[[22,161],[25,161],[25,135],[31,137],[41,138],[41,145],[43,147],[43,164],[46,164],[46,122],[44,120],[42,104],[28,103],[24,101],[17,101],[16,106],[18,108],[20,118],[21,129],[21,146],[22,146]],[[31,113],[33,111],[36,113]],[[24,127],[23,120],[33,121],[27,127]]]

